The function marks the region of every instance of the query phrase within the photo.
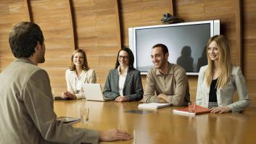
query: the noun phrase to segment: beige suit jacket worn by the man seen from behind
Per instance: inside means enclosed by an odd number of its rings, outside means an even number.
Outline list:
[[[98,143],[98,132],[56,120],[44,69],[17,59],[1,72],[0,81],[0,143]]]

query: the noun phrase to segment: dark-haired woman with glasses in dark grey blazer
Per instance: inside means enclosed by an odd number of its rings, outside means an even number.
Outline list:
[[[104,86],[104,96],[117,102],[140,101],[143,98],[141,72],[133,67],[134,56],[130,48],[117,54],[115,69],[111,69]]]

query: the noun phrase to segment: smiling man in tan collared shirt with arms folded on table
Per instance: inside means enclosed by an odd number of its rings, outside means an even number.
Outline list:
[[[151,59],[154,67],[146,75],[144,102],[186,106],[190,101],[186,71],[176,64],[170,64],[168,57],[167,46],[159,43],[152,47]],[[154,96],[154,92],[157,96]]]

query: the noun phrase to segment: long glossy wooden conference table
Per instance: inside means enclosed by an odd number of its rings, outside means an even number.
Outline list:
[[[80,117],[82,100],[54,101],[57,117]],[[104,143],[256,143],[256,108],[242,113],[173,114],[169,106],[162,109],[138,109],[141,102],[83,101],[90,109],[89,122],[74,127],[93,130],[118,128],[133,135],[132,140]]]

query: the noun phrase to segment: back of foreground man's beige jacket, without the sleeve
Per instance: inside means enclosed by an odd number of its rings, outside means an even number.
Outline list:
[[[1,72],[0,130],[4,130],[1,132],[1,143],[42,143],[38,140],[44,138],[30,118],[29,107],[24,103],[28,99],[24,93],[29,86],[27,82],[38,70],[41,69],[29,61],[16,60]]]

